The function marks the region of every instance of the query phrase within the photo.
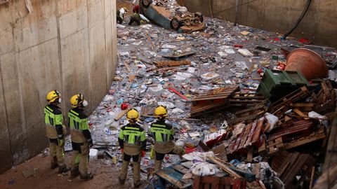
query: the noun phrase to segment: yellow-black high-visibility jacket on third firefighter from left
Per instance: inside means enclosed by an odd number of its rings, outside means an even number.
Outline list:
[[[127,155],[138,155],[146,150],[145,131],[140,125],[128,124],[119,131],[119,146]]]

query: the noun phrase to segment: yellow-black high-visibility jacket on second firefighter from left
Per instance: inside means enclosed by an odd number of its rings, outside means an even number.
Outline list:
[[[91,143],[91,133],[88,125],[88,116],[83,109],[74,108],[68,112],[70,134],[74,143]]]

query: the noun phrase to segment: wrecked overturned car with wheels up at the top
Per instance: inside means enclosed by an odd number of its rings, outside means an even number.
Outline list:
[[[140,11],[155,24],[178,32],[191,32],[204,29],[204,16],[190,13],[175,0],[140,0]]]

